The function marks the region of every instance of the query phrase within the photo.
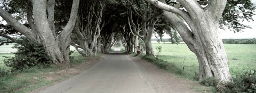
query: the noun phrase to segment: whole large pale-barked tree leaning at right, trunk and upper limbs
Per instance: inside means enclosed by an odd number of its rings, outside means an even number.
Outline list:
[[[231,81],[227,54],[220,38],[219,21],[226,1],[210,1],[202,7],[197,1],[178,0],[186,11],[167,5],[165,1],[146,0],[164,10],[164,16],[174,25],[199,62],[199,80],[216,77],[222,82]],[[188,3],[189,2],[189,3]],[[180,20],[181,16],[187,25]]]

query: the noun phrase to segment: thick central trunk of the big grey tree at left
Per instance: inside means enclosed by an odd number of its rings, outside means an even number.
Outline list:
[[[59,50],[58,44],[50,29],[46,15],[46,0],[32,1],[35,26],[42,40],[42,44],[49,53],[53,63],[62,63],[65,59]]]

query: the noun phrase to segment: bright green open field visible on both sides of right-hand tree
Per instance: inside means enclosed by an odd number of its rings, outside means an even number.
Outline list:
[[[198,61],[196,55],[191,52],[186,44],[153,43],[162,46],[159,59],[175,64],[182,71],[182,75],[193,79],[195,73],[198,74]],[[255,69],[256,67],[256,45],[255,44],[224,44],[229,61],[229,70],[233,77],[245,70]]]

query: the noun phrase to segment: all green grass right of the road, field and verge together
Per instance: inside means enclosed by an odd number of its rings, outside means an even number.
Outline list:
[[[191,52],[186,44],[170,44],[170,42],[153,43],[153,49],[156,46],[162,46],[162,52],[158,59],[143,57],[148,61],[155,63],[158,67],[168,72],[175,73],[178,77],[195,80],[199,75],[198,60],[196,55]],[[229,71],[235,78],[246,70],[256,67],[256,45],[255,44],[224,44],[229,61]],[[214,87],[191,86],[198,92],[217,92]]]

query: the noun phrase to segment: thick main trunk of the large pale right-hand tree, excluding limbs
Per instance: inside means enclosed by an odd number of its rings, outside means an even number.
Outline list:
[[[195,20],[191,28],[195,28],[195,41],[198,42],[195,53],[199,61],[199,79],[217,77],[225,82],[231,81],[227,54],[220,38],[219,22],[214,22],[214,19],[203,14]]]

